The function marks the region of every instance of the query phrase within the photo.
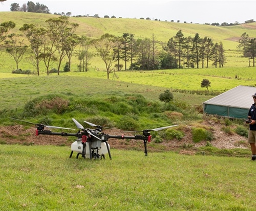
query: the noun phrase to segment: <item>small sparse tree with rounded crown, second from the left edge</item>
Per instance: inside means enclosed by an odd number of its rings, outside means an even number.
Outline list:
[[[9,53],[16,63],[16,69],[18,69],[18,63],[23,59],[28,45],[24,43],[24,37],[21,34],[8,35],[9,40],[5,41],[6,52]]]

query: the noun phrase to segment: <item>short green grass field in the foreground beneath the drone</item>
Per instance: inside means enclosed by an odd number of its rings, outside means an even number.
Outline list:
[[[248,158],[1,145],[1,210],[254,210]]]

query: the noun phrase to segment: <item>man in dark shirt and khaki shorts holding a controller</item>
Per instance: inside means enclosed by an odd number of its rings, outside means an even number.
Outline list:
[[[249,124],[248,143],[251,146],[251,160],[256,160],[256,93],[251,97],[253,98],[254,103],[250,107],[246,123]]]

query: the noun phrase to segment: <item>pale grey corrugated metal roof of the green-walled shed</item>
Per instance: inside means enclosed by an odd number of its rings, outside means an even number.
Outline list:
[[[249,109],[254,103],[251,96],[254,95],[255,92],[256,87],[240,85],[203,102],[203,104]]]

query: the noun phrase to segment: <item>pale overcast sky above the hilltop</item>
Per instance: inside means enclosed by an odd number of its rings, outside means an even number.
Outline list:
[[[30,0],[31,1],[31,0]],[[0,3],[0,11],[10,11],[12,3],[18,3],[20,7],[27,4],[28,0],[16,0]],[[212,24],[213,22],[256,20],[256,1],[108,1],[108,0],[40,0],[31,1],[47,6],[51,13],[67,13],[73,15],[104,15],[122,18],[151,18],[158,20],[180,22],[193,22],[194,24]],[[1,13],[0,13],[1,22]]]

